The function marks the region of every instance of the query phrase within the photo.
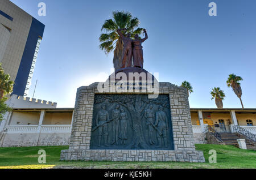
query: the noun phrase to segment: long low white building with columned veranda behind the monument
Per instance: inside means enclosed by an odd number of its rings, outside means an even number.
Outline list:
[[[13,112],[1,123],[0,147],[69,144],[73,108],[56,108],[52,102],[17,96],[7,103],[13,105]],[[215,131],[210,133],[217,143],[225,144],[214,135],[227,133],[256,142],[256,109],[191,109],[191,124],[196,144],[209,143],[209,127]]]

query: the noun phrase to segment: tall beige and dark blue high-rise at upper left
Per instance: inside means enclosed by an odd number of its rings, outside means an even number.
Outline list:
[[[15,82],[13,94],[30,88],[44,24],[9,0],[0,1],[0,63]]]

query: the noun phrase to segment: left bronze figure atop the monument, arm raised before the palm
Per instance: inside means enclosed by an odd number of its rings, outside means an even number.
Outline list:
[[[121,31],[127,31],[126,28],[123,29],[117,29],[118,35],[121,37],[123,41],[123,53],[122,53],[122,67],[131,67],[132,66],[132,60],[133,57],[133,48],[132,48],[132,42],[133,40],[130,38],[131,34],[127,33],[127,37],[123,35]]]

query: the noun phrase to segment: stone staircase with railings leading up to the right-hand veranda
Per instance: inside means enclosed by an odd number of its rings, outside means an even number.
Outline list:
[[[226,145],[235,145],[238,147],[237,139],[245,139],[238,136],[236,133],[220,133],[221,140]],[[256,143],[251,143],[249,140],[245,139],[247,149],[253,149],[256,151]]]

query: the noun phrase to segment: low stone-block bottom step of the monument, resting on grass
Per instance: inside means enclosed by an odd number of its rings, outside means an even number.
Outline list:
[[[61,151],[60,160],[65,161],[177,161],[205,162],[201,151],[183,150],[75,150]]]

